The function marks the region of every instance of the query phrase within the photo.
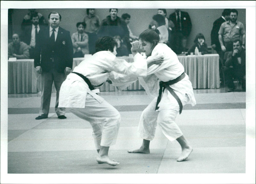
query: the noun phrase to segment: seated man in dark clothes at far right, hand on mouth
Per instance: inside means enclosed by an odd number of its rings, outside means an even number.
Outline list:
[[[242,89],[245,91],[245,49],[241,40],[233,42],[233,52],[228,54],[225,62],[225,78],[228,83],[228,92],[235,90],[233,77],[242,80]]]

